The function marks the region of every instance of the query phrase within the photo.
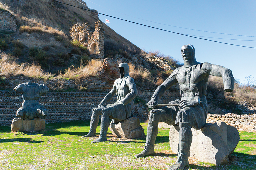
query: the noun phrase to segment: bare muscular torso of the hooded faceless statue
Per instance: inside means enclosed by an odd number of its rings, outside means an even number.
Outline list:
[[[115,84],[116,84],[116,95],[117,95],[117,100],[116,102],[119,102],[120,100],[122,100],[123,98],[125,98],[125,96],[130,93],[129,87],[127,86],[127,84],[125,83],[127,77],[121,79],[116,79]]]

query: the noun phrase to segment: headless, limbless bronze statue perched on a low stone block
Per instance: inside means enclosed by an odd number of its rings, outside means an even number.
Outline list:
[[[39,117],[45,119],[48,115],[48,110],[39,104],[40,95],[46,94],[49,88],[44,84],[38,83],[22,83],[17,85],[14,90],[17,93],[22,93],[23,104],[17,110],[16,115],[21,119],[34,119]]]

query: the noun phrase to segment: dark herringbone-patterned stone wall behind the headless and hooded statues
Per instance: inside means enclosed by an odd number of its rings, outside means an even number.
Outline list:
[[[107,93],[48,92],[39,103],[49,110],[46,123],[90,119],[92,108],[98,106]],[[113,98],[109,103],[114,103]],[[16,91],[0,91],[0,125],[11,125],[23,99]]]

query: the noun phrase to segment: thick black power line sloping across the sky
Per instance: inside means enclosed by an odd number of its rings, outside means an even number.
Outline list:
[[[55,1],[55,0],[52,0],[52,1]],[[55,2],[59,2],[59,1],[55,1]],[[63,3],[63,2],[59,2],[59,3]],[[70,5],[70,4],[67,4],[67,3],[63,3],[63,4],[76,7],[76,6],[74,6],[74,5]],[[80,7],[76,7],[76,8],[80,8]],[[94,12],[94,11],[91,11],[91,10],[88,10],[88,9],[84,9],[84,8],[80,8],[80,9],[83,9],[83,10],[86,10],[86,11],[90,11],[90,12]],[[101,13],[99,13],[99,12],[94,12],[94,13],[101,14]],[[129,20],[124,20],[124,19],[122,19],[122,18],[117,18],[117,17],[114,17],[114,16],[106,15],[106,14],[101,14],[101,15],[109,16],[109,17],[111,17],[111,18],[116,18],[116,19],[118,19],[118,20],[123,20],[123,21],[131,22],[131,23],[133,23],[133,24],[138,24],[138,25],[146,26],[146,27],[149,27],[149,28],[154,28],[154,29],[157,29],[157,30],[166,31],[166,32],[169,32],[169,33],[184,35],[184,36],[187,36],[187,37],[192,37],[192,38],[197,38],[197,39],[212,41],[212,42],[216,42],[216,43],[222,43],[222,44],[235,45],[235,46],[239,46],[239,47],[247,47],[247,48],[255,48],[255,49],[256,49],[256,47],[248,47],[248,46],[243,46],[243,45],[236,45],[236,44],[224,43],[224,42],[220,42],[220,41],[214,41],[214,40],[209,40],[209,39],[194,37],[194,36],[191,36],[191,35],[176,33],[176,32],[173,32],[173,31],[168,31],[168,30],[164,30],[164,29],[161,29],[161,28],[156,28],[156,27],[153,27],[153,26],[148,26],[148,25],[140,24],[140,23],[137,23],[137,22],[132,22],[132,21],[129,21]]]

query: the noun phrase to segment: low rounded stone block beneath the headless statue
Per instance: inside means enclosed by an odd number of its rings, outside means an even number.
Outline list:
[[[14,118],[12,120],[11,130],[12,131],[39,131],[45,129],[44,119],[34,118],[33,120],[21,118]]]

